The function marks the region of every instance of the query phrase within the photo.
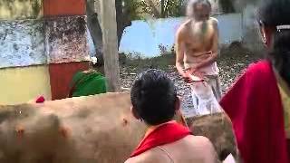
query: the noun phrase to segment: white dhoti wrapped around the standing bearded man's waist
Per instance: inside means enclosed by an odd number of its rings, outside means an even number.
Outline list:
[[[192,66],[193,63],[185,64],[186,69]],[[204,82],[190,83],[194,116],[221,112],[218,104],[221,99],[221,89],[217,63],[201,69],[200,72],[205,74]]]

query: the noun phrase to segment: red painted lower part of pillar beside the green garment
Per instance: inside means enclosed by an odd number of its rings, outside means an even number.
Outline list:
[[[65,99],[68,96],[74,73],[88,69],[89,62],[49,64],[52,100]]]

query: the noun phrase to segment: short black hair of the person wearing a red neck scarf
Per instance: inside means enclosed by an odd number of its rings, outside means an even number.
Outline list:
[[[165,72],[142,72],[131,87],[133,110],[149,125],[172,120],[175,115],[177,91]]]

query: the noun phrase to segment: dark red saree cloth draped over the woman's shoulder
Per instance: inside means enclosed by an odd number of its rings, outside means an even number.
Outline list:
[[[220,101],[244,163],[289,163],[284,110],[272,64],[252,64]]]

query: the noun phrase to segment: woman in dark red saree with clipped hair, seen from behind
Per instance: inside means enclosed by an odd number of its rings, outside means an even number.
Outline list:
[[[289,163],[290,0],[263,1],[257,20],[268,49],[220,101],[245,163]]]

